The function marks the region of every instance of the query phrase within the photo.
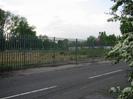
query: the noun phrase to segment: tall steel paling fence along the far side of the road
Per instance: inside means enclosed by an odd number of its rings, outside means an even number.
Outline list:
[[[0,72],[78,63],[89,58],[86,49],[85,40],[7,34],[0,37]]]

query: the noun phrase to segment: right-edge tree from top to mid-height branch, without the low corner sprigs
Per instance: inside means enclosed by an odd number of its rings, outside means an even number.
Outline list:
[[[114,49],[109,53],[109,56],[115,57],[117,61],[123,59],[129,64],[132,63],[133,56],[131,56],[132,52],[132,42],[133,42],[133,1],[132,0],[113,0],[114,6],[112,7],[112,14],[114,15],[111,20],[120,21],[120,29],[122,33],[122,38],[119,40],[119,43],[114,47]],[[118,16],[116,13],[118,8],[122,7],[122,14]],[[110,19],[109,19],[110,20]],[[128,49],[128,50],[126,50]],[[124,54],[124,55],[123,55]],[[130,55],[131,59],[127,60],[127,56]]]

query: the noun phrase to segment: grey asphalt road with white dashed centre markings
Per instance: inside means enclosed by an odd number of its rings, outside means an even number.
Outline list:
[[[127,84],[127,66],[123,63],[84,63],[44,72],[43,69],[0,78],[0,99],[112,99],[108,89]]]

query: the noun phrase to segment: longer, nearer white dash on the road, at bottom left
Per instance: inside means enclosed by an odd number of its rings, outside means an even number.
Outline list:
[[[37,90],[33,90],[33,91],[28,91],[28,92],[24,92],[24,93],[20,93],[20,94],[16,94],[16,95],[11,95],[11,96],[7,96],[7,97],[3,97],[0,99],[10,99],[10,98],[15,98],[18,96],[23,96],[23,95],[28,95],[28,94],[32,94],[32,93],[36,93],[36,92],[40,92],[40,91],[45,91],[48,89],[53,89],[56,88],[57,86],[51,86],[51,87],[47,87],[47,88],[41,88],[41,89],[37,89]]]

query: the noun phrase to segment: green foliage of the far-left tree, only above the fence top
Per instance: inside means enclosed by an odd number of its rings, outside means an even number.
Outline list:
[[[30,26],[24,17],[0,9],[0,33],[11,36],[36,35],[35,27]]]

